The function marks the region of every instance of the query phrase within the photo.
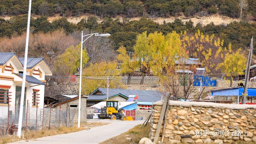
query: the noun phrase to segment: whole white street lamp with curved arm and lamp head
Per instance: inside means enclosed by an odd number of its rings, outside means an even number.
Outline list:
[[[81,114],[81,87],[82,87],[82,44],[91,36],[102,36],[102,37],[110,37],[109,33],[98,34],[98,33],[91,33],[91,34],[81,34],[81,58],[80,58],[80,77],[79,77],[79,103],[78,103],[78,128],[80,128],[80,114]],[[84,37],[88,36],[85,40]]]

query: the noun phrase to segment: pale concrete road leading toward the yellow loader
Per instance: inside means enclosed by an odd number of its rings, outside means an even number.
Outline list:
[[[22,140],[11,144],[98,144],[112,137],[116,137],[121,133],[127,132],[129,129],[138,124],[142,124],[143,122],[144,121],[115,120],[110,124],[94,127],[89,130],[82,130],[68,134],[58,134],[32,140]]]

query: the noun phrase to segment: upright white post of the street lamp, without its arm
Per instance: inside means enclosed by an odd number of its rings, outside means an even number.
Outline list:
[[[82,35],[81,35],[81,57],[80,57],[80,78],[79,78],[79,102],[78,102],[78,128],[80,128],[80,115],[81,115],[82,43],[83,43],[83,31],[82,31]]]

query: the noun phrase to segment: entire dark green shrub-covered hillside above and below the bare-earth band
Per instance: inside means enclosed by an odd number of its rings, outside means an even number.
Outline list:
[[[63,29],[66,35],[88,29],[111,33],[112,48],[124,46],[133,51],[136,36],[144,31],[166,34],[171,31],[195,33],[198,30],[224,40],[224,46],[231,42],[233,48],[247,48],[251,36],[256,36],[256,2],[245,0],[241,12],[241,0],[33,0],[31,31],[52,33]],[[11,38],[26,31],[28,0],[0,0],[0,38]],[[87,15],[78,23],[67,17]],[[237,21],[215,25],[208,23],[163,21],[161,24],[151,18],[227,16]],[[49,21],[49,17],[59,16]],[[122,17],[122,20],[116,17]],[[8,17],[8,18],[6,18]],[[136,18],[137,17],[137,18]],[[139,18],[138,18],[139,17]],[[99,20],[100,18],[100,20]],[[134,18],[128,20],[127,18]],[[239,20],[241,18],[241,21]],[[1,39],[0,39],[1,41]]]

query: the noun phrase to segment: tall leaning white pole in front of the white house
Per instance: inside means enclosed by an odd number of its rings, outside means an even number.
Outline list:
[[[17,136],[19,138],[21,138],[22,117],[23,117],[23,105],[24,105],[25,82],[26,82],[26,71],[27,71],[28,39],[29,39],[29,32],[30,32],[30,15],[31,15],[31,0],[29,0],[29,5],[28,5],[28,20],[27,20],[27,34],[26,34],[26,45],[25,45],[25,58],[24,58],[24,64],[23,64],[23,76],[22,76],[22,87],[21,87],[21,97],[20,97],[20,113],[19,113],[19,119],[18,119]]]

